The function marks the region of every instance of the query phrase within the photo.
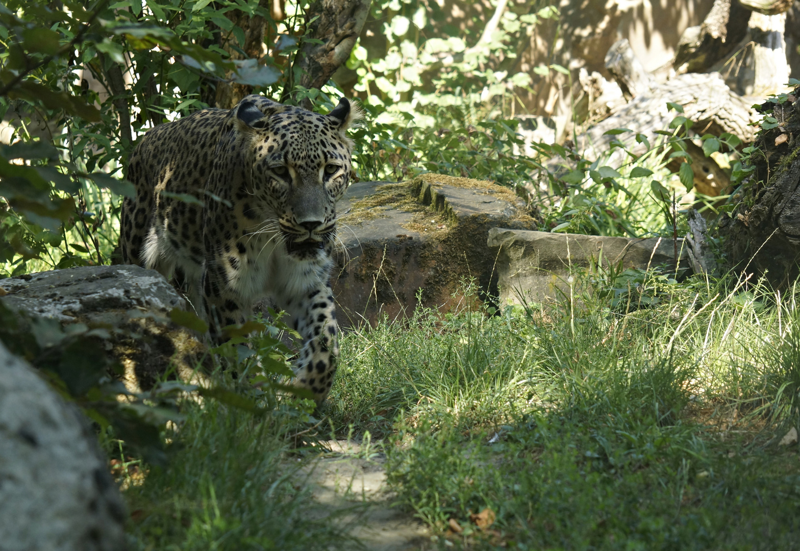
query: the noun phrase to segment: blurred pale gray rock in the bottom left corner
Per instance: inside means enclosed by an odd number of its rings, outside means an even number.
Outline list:
[[[0,344],[0,548],[119,551],[125,516],[82,414]]]

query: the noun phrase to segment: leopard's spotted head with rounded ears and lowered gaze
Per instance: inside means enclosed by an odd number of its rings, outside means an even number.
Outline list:
[[[277,233],[298,259],[330,254],[336,202],[350,183],[353,141],[346,130],[360,110],[342,98],[329,114],[248,96],[236,107],[244,136],[244,217]],[[269,226],[269,227],[268,227]]]

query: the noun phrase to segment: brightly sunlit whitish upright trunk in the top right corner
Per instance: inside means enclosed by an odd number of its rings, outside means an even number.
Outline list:
[[[786,89],[789,69],[786,65],[786,14],[764,15],[754,11],[750,15],[750,36],[753,38],[755,82],[753,94],[763,97],[778,94]]]

